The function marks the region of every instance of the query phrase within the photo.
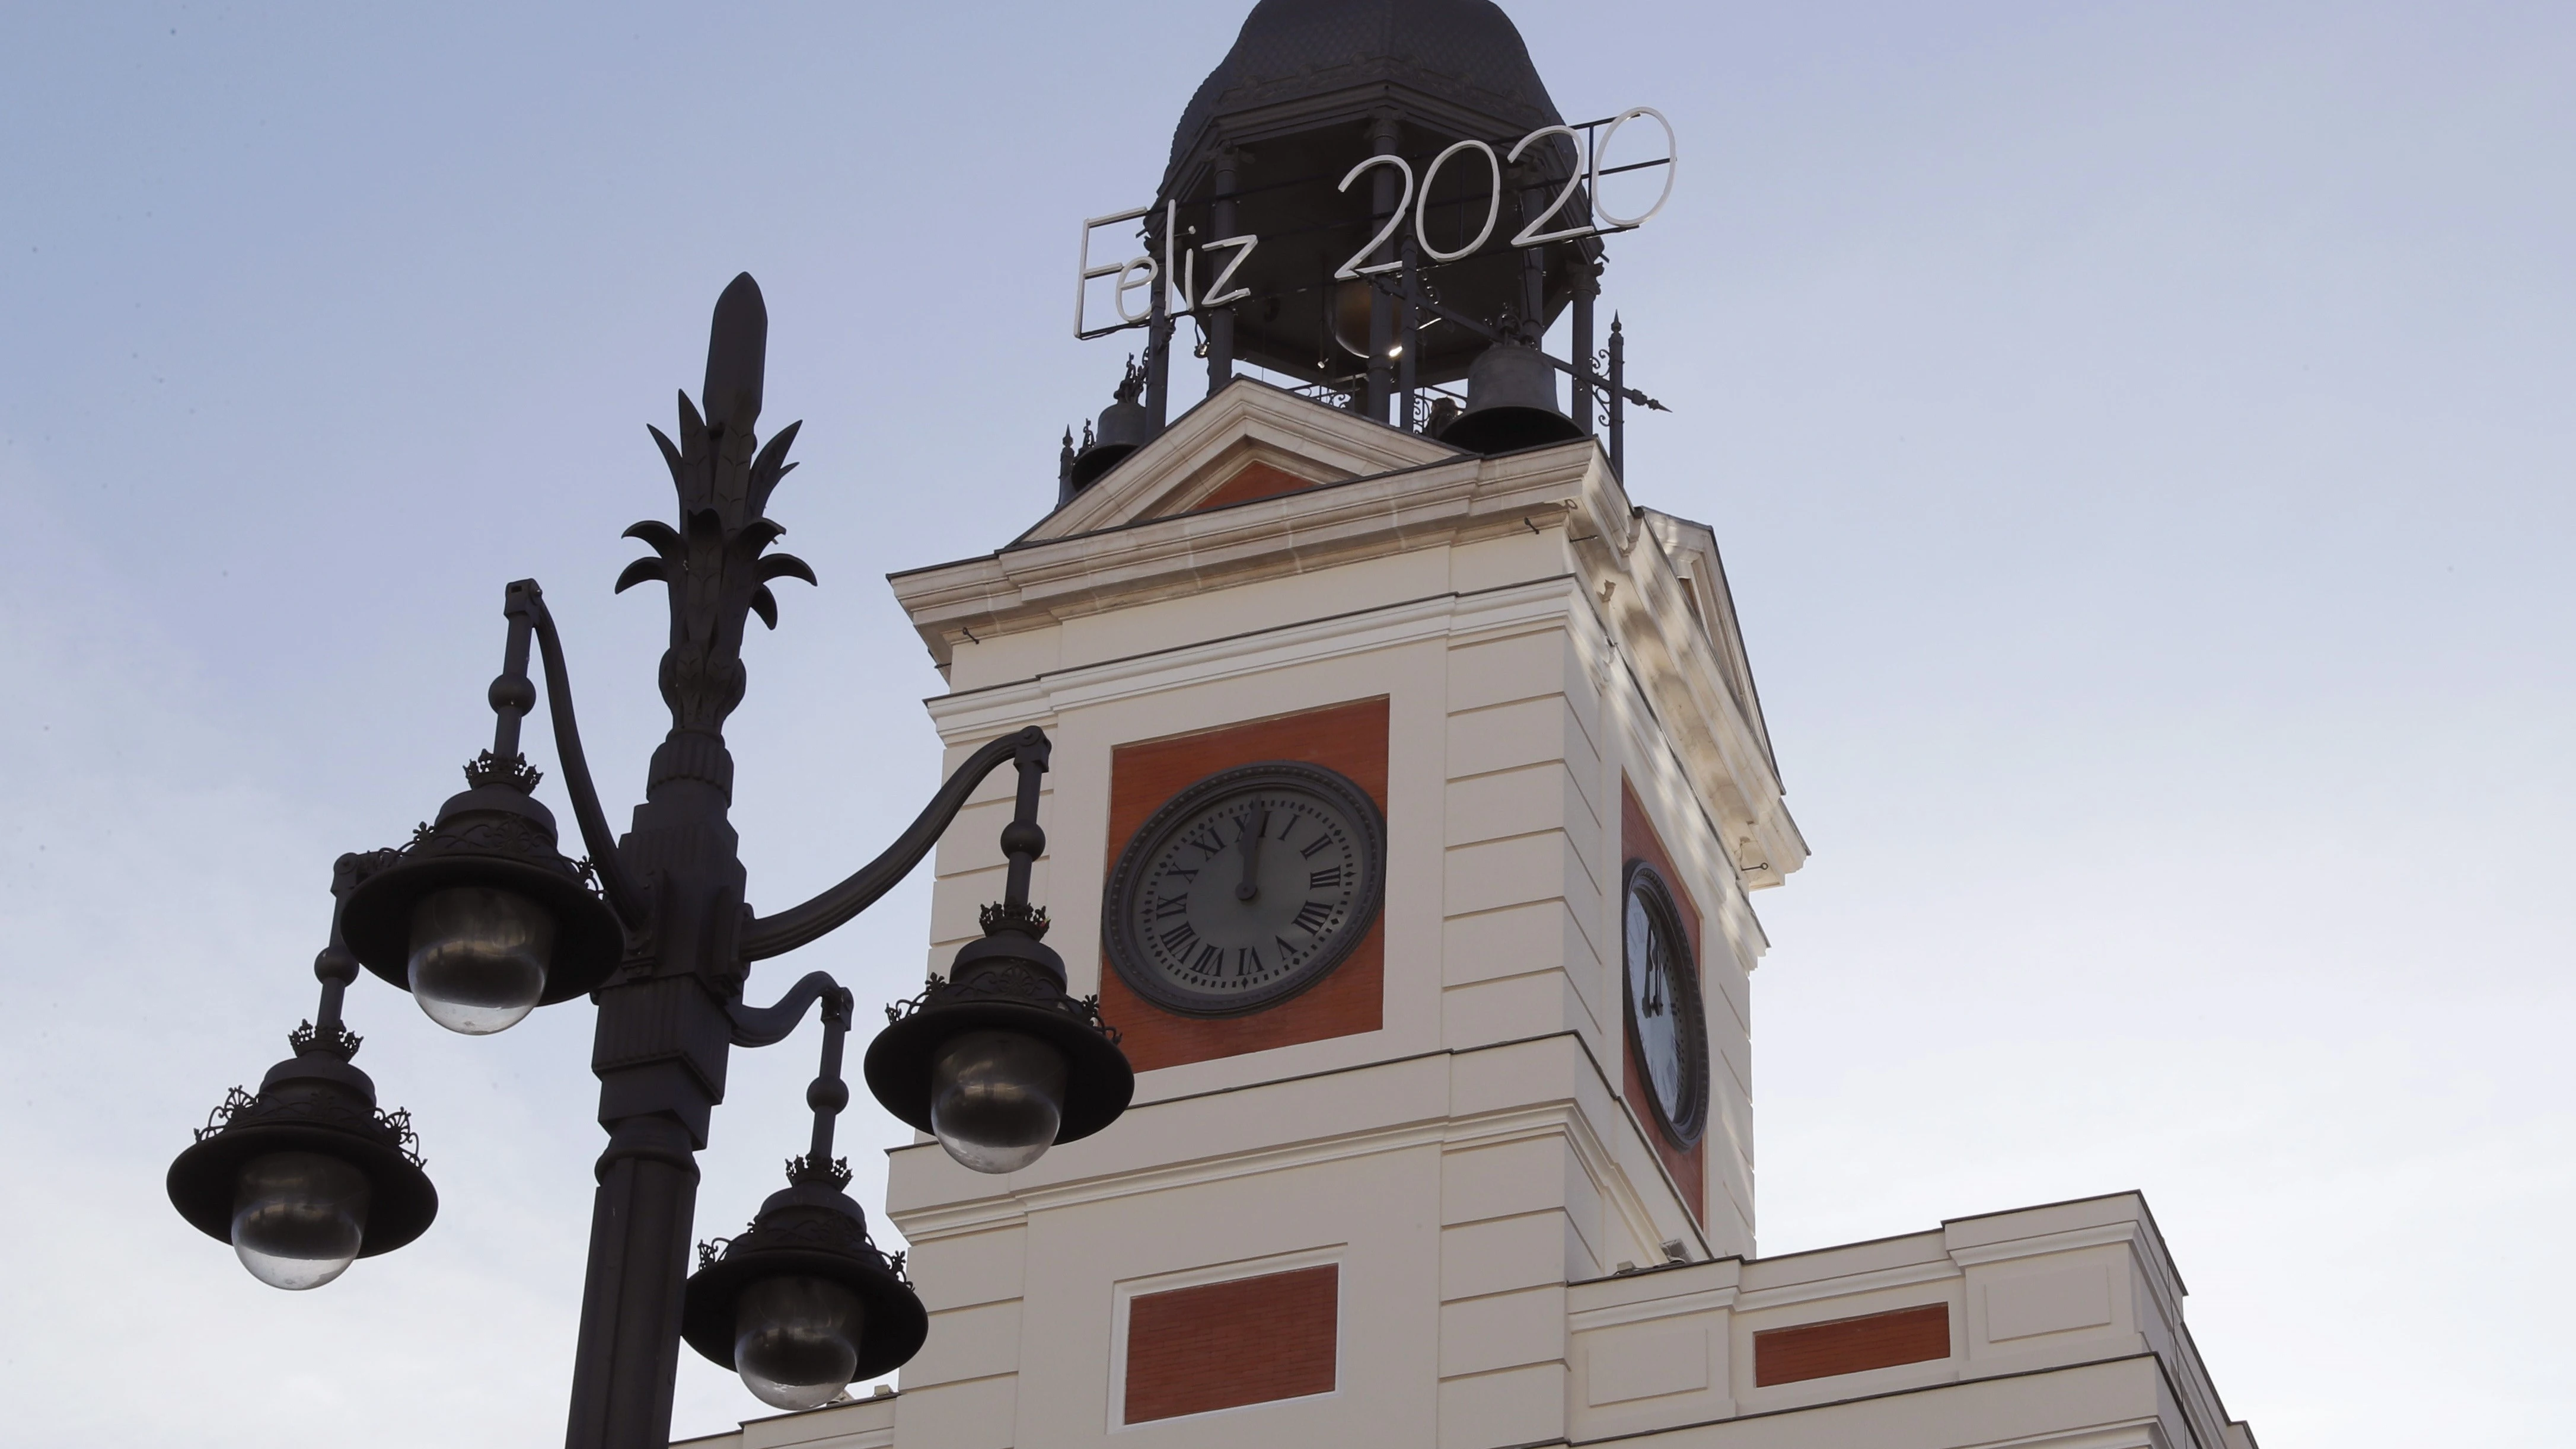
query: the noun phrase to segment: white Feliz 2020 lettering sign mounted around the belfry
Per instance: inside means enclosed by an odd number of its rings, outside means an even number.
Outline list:
[[[1664,129],[1664,154],[1643,162],[1607,165],[1610,142],[1618,136],[1620,126],[1636,118],[1651,118]],[[1334,281],[1358,281],[1376,273],[1391,273],[1404,265],[1404,260],[1370,260],[1383,255],[1383,250],[1396,242],[1396,232],[1412,224],[1412,239],[1419,247],[1425,263],[1455,263],[1484,250],[1494,239],[1494,229],[1502,224],[1502,196],[1504,196],[1504,167],[1520,162],[1522,152],[1546,142],[1548,136],[1566,136],[1577,149],[1577,165],[1569,170],[1564,185],[1530,216],[1517,232],[1512,232],[1512,247],[1543,247],[1548,242],[1569,242],[1574,237],[1607,237],[1615,232],[1633,232],[1651,221],[1664,201],[1672,198],[1672,180],[1680,172],[1680,142],[1672,134],[1672,121],[1664,118],[1654,106],[1631,106],[1618,116],[1602,121],[1587,121],[1582,126],[1540,126],[1528,136],[1512,142],[1507,152],[1497,152],[1489,142],[1455,142],[1443,149],[1422,175],[1414,175],[1414,165],[1399,154],[1373,154],[1363,157],[1350,172],[1342,175],[1342,185],[1334,190],[1350,190],[1355,180],[1376,167],[1388,167],[1396,172],[1401,185],[1386,224],[1368,237],[1360,250],[1355,250],[1340,268],[1334,268]],[[1489,178],[1484,196],[1484,224],[1473,237],[1466,237],[1455,247],[1443,247],[1432,242],[1430,234],[1430,193],[1440,170],[1448,165],[1476,165],[1484,162]],[[1633,216],[1618,216],[1602,203],[1602,178],[1664,167],[1664,185],[1654,193],[1654,203]],[[1566,208],[1577,203],[1577,188],[1592,183],[1582,193],[1582,206],[1589,216],[1569,216]],[[1216,237],[1198,245],[1180,245],[1180,201],[1164,201],[1162,219],[1162,255],[1139,252],[1118,263],[1092,263],[1092,234],[1103,226],[1123,226],[1128,221],[1141,221],[1154,214],[1151,206],[1139,206],[1133,211],[1113,211],[1108,216],[1090,216],[1082,221],[1082,247],[1074,260],[1074,337],[1108,337],[1110,332],[1126,332],[1128,327],[1144,327],[1154,317],[1154,286],[1164,286],[1164,314],[1185,317],[1208,311],[1216,306],[1231,306],[1236,301],[1252,299],[1249,286],[1236,286],[1236,273],[1260,250],[1262,239],[1257,234],[1242,237]],[[1206,263],[1200,263],[1206,257]],[[1200,268],[1208,273],[1208,283],[1200,288]],[[1110,281],[1110,306],[1118,311],[1118,322],[1095,327],[1090,322],[1092,283],[1103,278]],[[1144,304],[1131,309],[1128,299],[1144,293]]]

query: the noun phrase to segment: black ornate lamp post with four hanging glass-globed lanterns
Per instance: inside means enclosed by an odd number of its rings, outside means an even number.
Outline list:
[[[170,1202],[204,1233],[229,1238],[260,1282],[319,1287],[353,1259],[420,1235],[438,1212],[410,1117],[379,1112],[374,1084],[350,1066],[358,1037],[340,1022],[340,999],[358,968],[402,986],[433,1022],[464,1035],[590,996],[590,1068],[608,1148],[590,1220],[569,1449],[665,1449],[683,1336],[781,1408],[827,1403],[850,1380],[889,1372],[920,1349],[920,1300],[902,1261],[868,1238],[866,1215],[842,1194],[848,1166],[829,1156],[832,1117],[848,1104],[840,1058],[850,993],[822,973],[775,1006],[750,1006],[742,991],[755,960],[829,934],[912,872],[1002,764],[1018,770],[999,842],[1010,860],[1005,898],[984,911],[984,939],[958,952],[948,981],[933,975],[922,996],[889,1009],[866,1055],[868,1086],[961,1163],[1015,1171],[1051,1143],[1110,1125],[1136,1084],[1097,1004],[1066,993],[1064,963],[1041,942],[1046,911],[1028,903],[1030,865],[1046,849],[1038,777],[1048,739],[1038,728],[969,757],[920,818],[840,885],[770,916],[744,903],[724,744],[724,718],[744,690],[742,633],[750,615],[778,625],[770,582],[814,582],[801,558],[768,553],[781,528],[765,507],[793,468],[786,453],[799,425],[765,448],[752,432],[765,350],[768,311],[744,273],[716,301],[703,409],[683,394],[677,443],[652,430],[680,494],[677,528],[629,528],[652,556],[616,587],[667,589],[670,734],[654,749],[631,829],[616,836],[600,811],[562,638],[544,592],[520,579],[502,602],[510,628],[489,690],[492,749],[466,764],[466,790],[410,844],[340,857],[332,939],[314,963],[317,1019],[289,1037],[296,1055],[270,1068],[258,1094],[234,1089],[170,1166]],[[531,646],[582,862],[556,847],[554,813],[533,795],[538,772],[520,754],[520,721],[541,697],[528,677]],[[783,1040],[817,1001],[824,1055],[806,1094],[817,1114],[811,1150],[791,1163],[788,1189],[760,1207],[750,1230],[701,1248],[690,1277],[696,1153],[724,1099],[726,1055]]]

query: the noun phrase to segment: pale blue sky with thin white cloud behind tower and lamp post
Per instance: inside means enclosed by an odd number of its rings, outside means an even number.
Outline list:
[[[634,795],[618,530],[744,268],[822,574],[750,649],[752,898],[917,808],[878,577],[1048,504],[1123,358],[1074,224],[1242,8],[0,10],[0,1436],[559,1441],[585,1011],[353,991],[446,1207],[330,1289],[160,1174],[312,1009],[332,857],[479,749],[502,582]],[[2275,1449],[2561,1441],[2576,10],[1507,8],[1566,113],[1682,134],[1607,301],[1674,404],[1631,492],[1716,525],[1816,847],[1759,898],[1765,1251],[2138,1186]],[[814,965],[909,993],[925,901]],[[737,1063],[703,1235],[801,1148],[811,1029]],[[894,1140],[845,1120],[871,1207]],[[680,1431],[747,1413],[683,1356]]]

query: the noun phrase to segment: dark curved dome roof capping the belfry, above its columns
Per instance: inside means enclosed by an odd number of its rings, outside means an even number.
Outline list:
[[[1208,124],[1363,85],[1401,85],[1515,131],[1561,121],[1492,0],[1262,0],[1172,131],[1172,170]]]

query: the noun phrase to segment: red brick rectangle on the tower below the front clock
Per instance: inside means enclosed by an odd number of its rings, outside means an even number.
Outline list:
[[[1126,1423],[1332,1392],[1340,1315],[1340,1264],[1139,1295]]]

